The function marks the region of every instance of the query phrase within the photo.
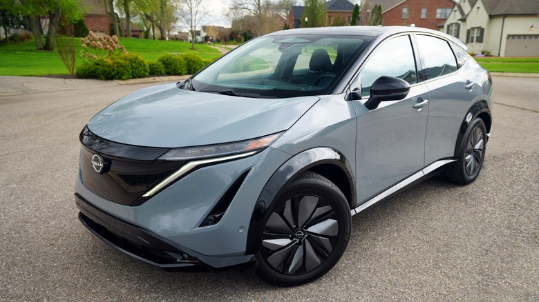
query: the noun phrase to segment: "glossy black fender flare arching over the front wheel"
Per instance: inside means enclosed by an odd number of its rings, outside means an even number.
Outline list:
[[[350,199],[350,208],[355,208],[355,181],[352,173],[352,166],[348,159],[346,159],[341,152],[332,148],[323,147],[305,150],[283,163],[283,165],[274,172],[269,181],[267,181],[260,196],[258,196],[249,223],[245,254],[252,254],[260,248],[263,228],[262,223],[266,218],[265,216],[269,214],[267,209],[272,205],[279,194],[281,194],[281,190],[288,183],[296,179],[301,173],[324,164],[335,165],[346,174],[349,182],[348,185],[350,185],[350,192],[343,193]]]

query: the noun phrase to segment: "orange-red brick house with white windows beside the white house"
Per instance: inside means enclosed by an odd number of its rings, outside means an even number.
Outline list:
[[[381,6],[384,26],[410,26],[439,30],[451,14],[455,2],[451,0],[363,0],[363,12],[370,12],[375,5]],[[361,24],[368,23],[368,13]]]

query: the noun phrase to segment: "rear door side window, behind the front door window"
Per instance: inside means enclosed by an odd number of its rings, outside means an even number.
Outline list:
[[[422,72],[425,80],[434,79],[457,70],[457,60],[447,41],[418,35],[417,45],[424,64]]]

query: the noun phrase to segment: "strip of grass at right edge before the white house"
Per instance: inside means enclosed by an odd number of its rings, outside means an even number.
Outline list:
[[[477,57],[477,63],[490,72],[539,73],[539,58]]]

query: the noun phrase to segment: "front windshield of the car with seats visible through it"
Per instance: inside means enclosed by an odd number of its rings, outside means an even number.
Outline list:
[[[327,94],[366,39],[340,35],[261,37],[202,70],[186,87],[240,97]]]

